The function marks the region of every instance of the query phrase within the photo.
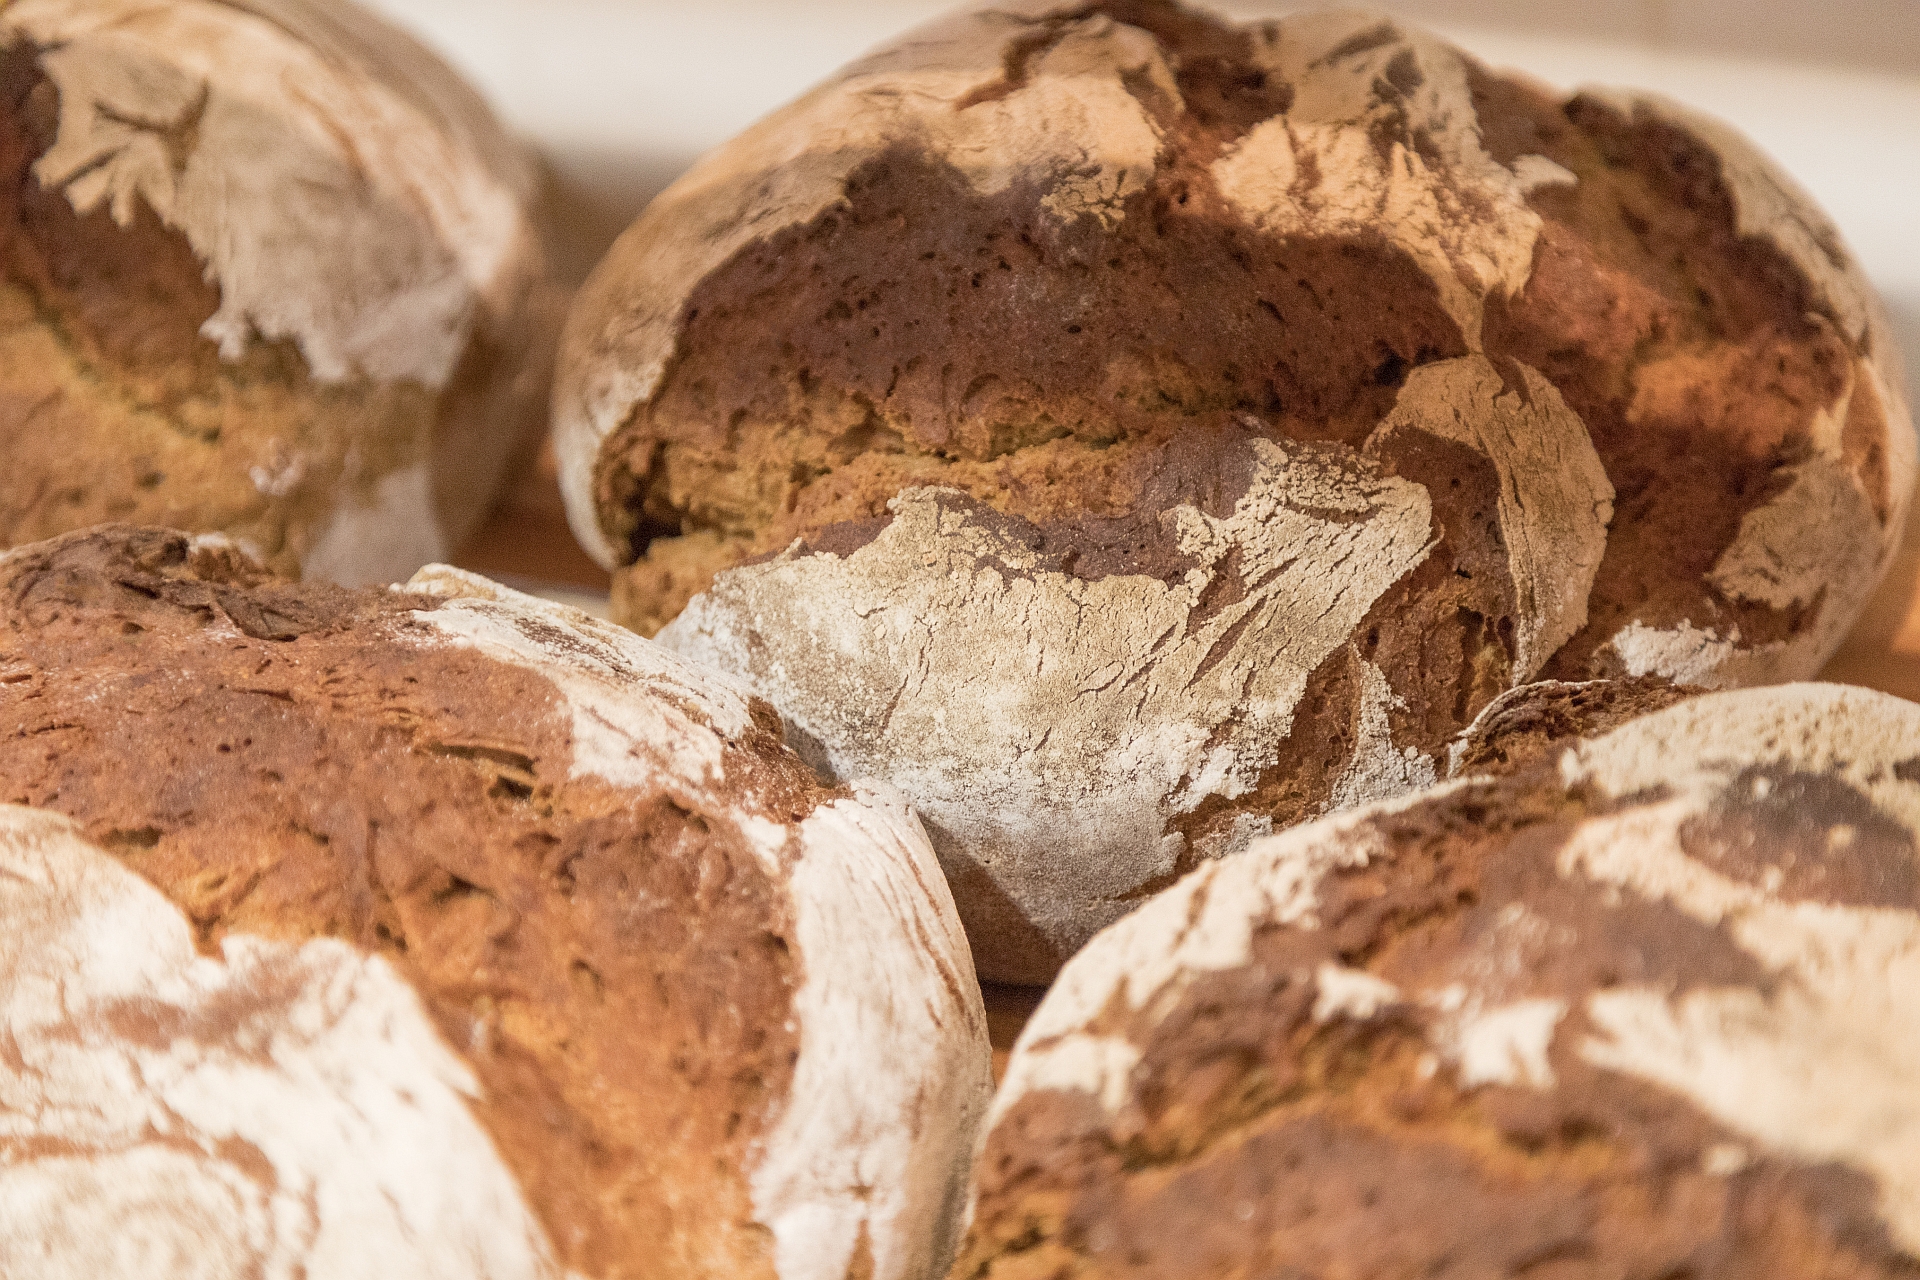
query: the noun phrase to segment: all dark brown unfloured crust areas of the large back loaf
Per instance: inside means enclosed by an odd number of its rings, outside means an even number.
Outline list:
[[[1165,136],[1148,190],[1110,230],[1060,228],[1044,192],[983,198],[897,146],[854,173],[843,203],[712,271],[660,390],[601,449],[599,509],[639,557],[620,574],[628,622],[651,633],[718,568],[883,518],[914,484],[1048,528],[1144,512],[1127,476],[1238,415],[1275,438],[1359,445],[1409,368],[1465,351],[1398,249],[1279,240],[1221,200],[1208,165],[1288,106],[1248,29],[1173,4],[1089,4],[1016,42],[1006,90],[1087,13],[1150,31],[1179,79],[1185,111],[1129,84]],[[1484,326],[1496,363],[1540,368],[1580,413],[1619,489],[1590,624],[1549,674],[1586,677],[1636,618],[1738,628],[1749,645],[1801,633],[1816,606],[1728,601],[1703,576],[1805,461],[1807,420],[1843,386],[1849,344],[1797,269],[1734,234],[1716,163],[1678,130],[1476,67],[1471,84],[1496,159],[1536,154],[1578,175],[1532,198],[1546,223],[1532,282],[1492,297]],[[1868,428],[1849,462],[1885,512]],[[1384,462],[1432,487],[1421,472],[1459,470],[1421,457],[1434,449],[1407,438]],[[1382,654],[1382,670],[1452,733],[1503,687],[1513,604],[1484,501],[1432,491],[1444,568],[1396,604],[1432,639]],[[1444,510],[1455,499],[1463,509]]]

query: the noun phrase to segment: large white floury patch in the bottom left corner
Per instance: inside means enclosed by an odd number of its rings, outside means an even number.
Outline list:
[[[194,950],[65,818],[0,806],[8,1280],[559,1280],[478,1082],[384,960]]]

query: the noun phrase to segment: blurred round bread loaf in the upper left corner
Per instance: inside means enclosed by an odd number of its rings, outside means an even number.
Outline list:
[[[346,0],[0,10],[0,545],[225,532],[386,583],[545,420],[538,175]]]

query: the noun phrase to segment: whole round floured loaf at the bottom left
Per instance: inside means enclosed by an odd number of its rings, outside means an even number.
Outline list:
[[[912,812],[428,568],[0,560],[0,1274],[941,1274],[991,1088]]]

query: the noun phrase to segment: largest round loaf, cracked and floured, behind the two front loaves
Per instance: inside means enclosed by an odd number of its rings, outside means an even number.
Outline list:
[[[897,783],[981,973],[1043,981],[1513,685],[1812,676],[1907,505],[1895,359],[1820,211],[1674,104],[1377,15],[1027,0],[660,196],[555,430],[616,614]]]

